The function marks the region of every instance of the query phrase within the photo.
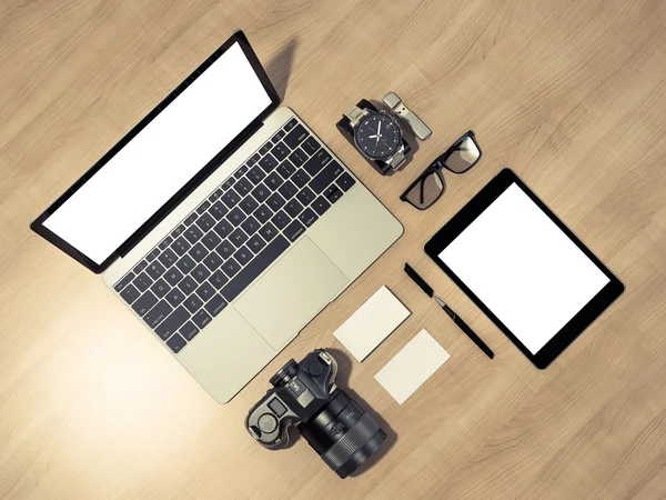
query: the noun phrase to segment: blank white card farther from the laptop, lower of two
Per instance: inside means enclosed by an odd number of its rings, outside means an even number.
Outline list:
[[[448,358],[448,352],[423,329],[377,372],[375,379],[402,404]]]

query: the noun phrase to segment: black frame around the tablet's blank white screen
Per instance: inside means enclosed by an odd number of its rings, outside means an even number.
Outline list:
[[[538,352],[533,354],[495,313],[470,290],[470,288],[440,258],[440,253],[455,240],[486,208],[488,208],[509,186],[517,184],[525,194],[562,230],[583,253],[608,278],[608,283],[587,302]],[[624,284],[592,251],[571,231],[551,209],[513,172],[506,168],[495,176],[472,200],[464,206],[425,244],[425,253],[474,301],[474,303],[515,343],[518,349],[539,369],[546,368],[583,331],[596,320],[624,291]]]

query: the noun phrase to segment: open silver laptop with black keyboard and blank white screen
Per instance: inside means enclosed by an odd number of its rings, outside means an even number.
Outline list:
[[[403,233],[235,32],[31,224],[228,402]]]

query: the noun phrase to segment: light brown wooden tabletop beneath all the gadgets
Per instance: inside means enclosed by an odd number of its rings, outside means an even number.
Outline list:
[[[219,406],[30,221],[233,30],[292,107],[404,223],[404,237],[230,404]],[[371,171],[334,127],[396,91],[432,127]],[[4,0],[0,3],[0,497],[666,496],[666,2]],[[398,200],[458,136],[484,150],[427,212]],[[511,166],[627,291],[536,370],[422,251]],[[407,260],[495,350],[488,361],[402,272]],[[365,362],[333,331],[379,287],[413,311]],[[398,406],[374,374],[423,327],[451,359]],[[389,432],[344,481],[307,443],[244,431],[287,359],[334,349]]]

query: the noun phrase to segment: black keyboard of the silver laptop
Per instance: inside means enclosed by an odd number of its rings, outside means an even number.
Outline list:
[[[293,118],[113,288],[179,352],[354,183]]]

